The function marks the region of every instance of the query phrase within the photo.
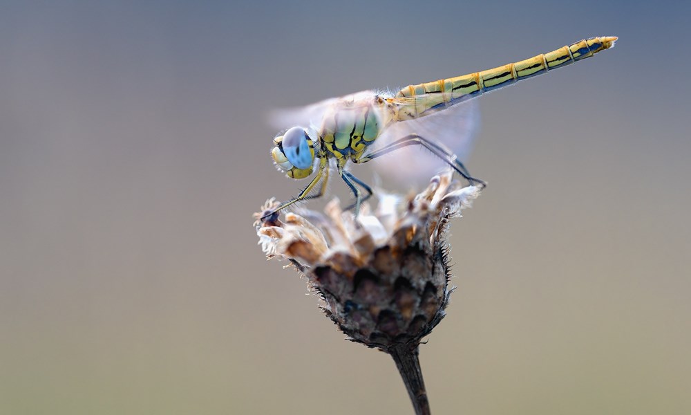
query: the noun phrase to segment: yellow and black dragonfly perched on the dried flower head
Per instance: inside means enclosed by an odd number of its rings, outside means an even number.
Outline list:
[[[264,217],[293,205],[323,196],[326,192],[330,163],[354,194],[357,217],[372,188],[354,176],[350,164],[367,163],[406,147],[424,148],[438,160],[451,166],[470,185],[485,187],[480,178],[471,176],[457,153],[445,142],[462,141],[468,136],[468,102],[483,93],[515,84],[520,80],[547,73],[612,48],[617,37],[583,39],[549,53],[497,68],[406,86],[397,93],[362,91],[331,98],[297,110],[275,113],[276,124],[294,122],[274,137],[271,156],[287,177],[312,180],[294,198],[281,203]],[[467,141],[467,140],[466,140]],[[389,158],[401,172],[415,172],[419,165],[408,160]],[[315,174],[316,172],[316,174]]]

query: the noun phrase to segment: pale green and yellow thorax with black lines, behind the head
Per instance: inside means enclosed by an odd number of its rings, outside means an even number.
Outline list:
[[[323,119],[321,142],[336,158],[357,158],[379,136],[381,122],[370,104],[341,107]]]

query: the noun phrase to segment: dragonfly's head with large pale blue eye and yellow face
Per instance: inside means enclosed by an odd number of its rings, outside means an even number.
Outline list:
[[[314,146],[307,131],[292,127],[274,138],[271,156],[274,163],[292,178],[305,178],[314,170]]]

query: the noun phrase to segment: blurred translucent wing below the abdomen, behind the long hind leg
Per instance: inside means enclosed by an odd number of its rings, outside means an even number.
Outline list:
[[[468,100],[428,116],[391,124],[377,138],[370,151],[381,149],[391,142],[416,133],[443,145],[456,154],[462,163],[466,163],[479,124],[480,111],[477,100]],[[387,181],[394,181],[406,187],[425,185],[430,177],[448,166],[443,160],[418,145],[397,149],[368,164]],[[470,170],[472,173],[472,169]]]

